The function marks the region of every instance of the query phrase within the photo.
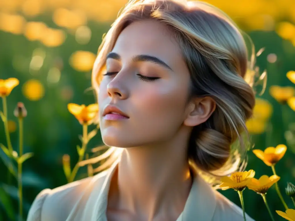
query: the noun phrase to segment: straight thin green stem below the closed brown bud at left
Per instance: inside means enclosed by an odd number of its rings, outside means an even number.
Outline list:
[[[19,117],[19,157],[23,152],[23,118]],[[19,220],[22,220],[22,163],[18,162]]]

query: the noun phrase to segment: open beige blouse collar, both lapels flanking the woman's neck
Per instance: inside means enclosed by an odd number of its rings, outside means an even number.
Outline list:
[[[99,197],[95,203],[95,208],[92,213],[94,219],[91,220],[107,221],[106,209],[109,186],[112,175],[117,169],[118,162],[119,160],[117,160],[109,169]],[[194,177],[184,210],[176,221],[191,221],[196,220],[196,217],[198,220],[209,221],[213,218],[216,207],[216,195],[214,190],[201,178],[201,176],[195,175]]]

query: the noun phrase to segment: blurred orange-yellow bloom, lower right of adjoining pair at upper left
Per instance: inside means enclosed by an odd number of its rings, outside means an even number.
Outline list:
[[[60,29],[47,28],[40,39],[47,47],[57,47],[65,42],[65,32]]]

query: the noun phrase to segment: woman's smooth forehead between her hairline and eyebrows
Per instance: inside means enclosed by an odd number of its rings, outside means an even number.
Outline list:
[[[185,65],[173,32],[155,20],[133,22],[119,35],[112,52],[128,62],[134,55],[152,55],[166,62],[173,70]],[[174,69],[174,68],[175,69]]]

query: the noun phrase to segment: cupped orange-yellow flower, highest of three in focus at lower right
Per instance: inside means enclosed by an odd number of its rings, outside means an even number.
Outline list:
[[[274,148],[273,146],[268,147],[264,150],[253,150],[253,153],[268,166],[275,165],[285,155],[287,150],[286,145],[279,144]]]

